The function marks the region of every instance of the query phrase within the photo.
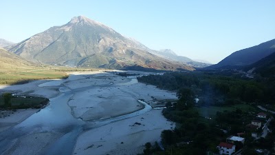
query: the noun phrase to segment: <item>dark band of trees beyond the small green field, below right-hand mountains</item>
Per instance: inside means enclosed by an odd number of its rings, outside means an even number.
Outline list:
[[[137,80],[164,90],[177,91],[188,87],[199,96],[201,105],[267,103],[274,100],[271,94],[273,91],[265,83],[207,72],[170,72],[164,75],[142,76]]]

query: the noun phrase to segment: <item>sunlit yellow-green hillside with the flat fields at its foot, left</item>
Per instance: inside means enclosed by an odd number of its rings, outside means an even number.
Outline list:
[[[85,71],[76,68],[37,65],[0,48],[0,85],[21,84],[39,79],[61,79],[67,77],[67,72],[78,70]]]

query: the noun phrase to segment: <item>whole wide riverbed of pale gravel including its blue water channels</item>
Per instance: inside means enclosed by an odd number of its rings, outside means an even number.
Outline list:
[[[136,76],[118,76],[117,72],[121,71],[75,72],[63,80],[1,86],[1,92],[45,96],[50,103],[38,112],[33,110],[31,116],[25,112],[29,117],[12,122],[10,127],[8,118],[0,118],[0,153],[142,152],[144,143],[159,140],[162,130],[174,127],[161,110],[152,110],[147,103],[177,96],[175,92],[138,83]]]

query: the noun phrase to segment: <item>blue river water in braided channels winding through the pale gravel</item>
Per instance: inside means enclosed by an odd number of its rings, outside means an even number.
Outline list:
[[[118,85],[132,85],[137,83],[137,79],[133,78],[129,82],[119,83]],[[14,145],[14,142],[21,136],[43,133],[43,132],[56,132],[63,133],[63,136],[54,141],[51,145],[43,148],[39,154],[72,154],[74,151],[74,145],[78,136],[85,130],[107,125],[109,123],[120,121],[122,119],[131,118],[140,114],[144,114],[152,109],[150,105],[144,101],[139,101],[144,105],[142,110],[138,110],[131,114],[125,114],[115,118],[109,118],[107,120],[85,122],[79,118],[72,116],[72,110],[67,105],[69,99],[76,93],[89,90],[92,86],[79,88],[76,90],[70,90],[65,87],[62,81],[50,82],[48,84],[61,85],[59,91],[61,95],[50,99],[50,104],[43,108],[36,114],[33,114],[25,121],[11,127],[9,130],[5,130],[0,133],[0,152],[1,154],[7,154],[5,150]],[[39,87],[47,86],[47,83],[39,85]],[[108,87],[108,85],[103,85]],[[32,149],[32,148],[29,148]]]

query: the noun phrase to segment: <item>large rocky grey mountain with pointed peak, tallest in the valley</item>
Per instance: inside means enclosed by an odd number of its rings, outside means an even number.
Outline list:
[[[145,45],[83,16],[74,17],[65,25],[54,26],[6,49],[29,61],[50,65],[194,70],[190,65],[155,56]]]

